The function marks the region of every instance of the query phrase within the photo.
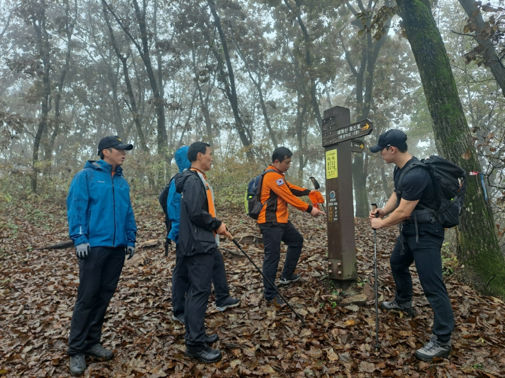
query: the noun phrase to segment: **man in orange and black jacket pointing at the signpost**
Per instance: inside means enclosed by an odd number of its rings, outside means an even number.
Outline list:
[[[313,217],[318,217],[320,214],[326,215],[317,207],[313,207],[298,198],[309,195],[310,189],[300,188],[286,181],[284,172],[291,165],[292,155],[293,153],[286,147],[279,147],[273,152],[272,164],[267,168],[267,170],[272,171],[263,176],[261,188],[263,207],[258,217],[258,225],[265,246],[263,274],[272,283],[275,281],[279,265],[281,241],[288,246],[281,274],[281,285],[287,285],[300,279],[300,275],[294,274],[294,269],[300,257],[301,247],[304,244],[304,237],[288,221],[287,204],[289,203],[298,210],[306,211]],[[283,304],[283,300],[278,296],[275,287],[272,287],[265,279],[263,279],[263,286],[263,294],[268,303],[273,303],[275,299],[277,304]]]

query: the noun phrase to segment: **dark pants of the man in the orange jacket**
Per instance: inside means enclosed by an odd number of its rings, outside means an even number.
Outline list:
[[[263,236],[263,245],[265,246],[263,274],[274,285],[270,285],[264,278],[263,295],[266,300],[272,300],[277,296],[277,292],[275,291],[275,276],[281,256],[281,241],[288,246],[281,278],[291,278],[300,258],[301,247],[304,245],[304,237],[301,236],[289,221],[282,224],[264,223],[260,224],[259,227]]]

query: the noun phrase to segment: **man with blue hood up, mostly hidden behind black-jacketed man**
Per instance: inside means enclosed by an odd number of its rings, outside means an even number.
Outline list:
[[[177,167],[179,167],[179,174],[191,168],[191,163],[187,158],[188,149],[188,146],[183,146],[175,152],[175,162],[177,163]],[[167,199],[168,218],[172,222],[172,229],[168,234],[168,239],[175,243],[176,250],[175,267],[172,272],[172,319],[184,323],[184,302],[189,284],[189,277],[184,258],[178,253],[181,194],[177,193],[175,190],[176,177],[177,175],[174,176],[170,182]],[[217,249],[214,255],[214,265],[212,267],[212,282],[214,283],[214,291],[216,292],[216,308],[219,311],[224,311],[227,308],[239,305],[240,299],[230,297],[223,255]],[[209,340],[211,343],[212,341],[213,340]]]

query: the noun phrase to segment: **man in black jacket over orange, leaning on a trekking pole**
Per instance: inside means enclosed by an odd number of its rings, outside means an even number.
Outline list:
[[[205,312],[211,294],[218,235],[229,234],[226,225],[216,218],[214,192],[206,181],[205,173],[211,169],[213,160],[210,145],[191,144],[188,159],[191,168],[175,178],[175,189],[181,193],[178,253],[184,258],[189,275],[184,311],[185,354],[211,363],[221,359],[221,352],[207,345],[216,342],[218,337],[206,334]]]

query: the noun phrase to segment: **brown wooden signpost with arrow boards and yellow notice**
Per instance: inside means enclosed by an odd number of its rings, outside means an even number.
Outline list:
[[[369,135],[372,130],[369,120],[351,124],[346,107],[334,106],[324,111],[328,277],[337,280],[341,287],[358,277],[351,152],[365,150],[365,143],[356,138]]]

